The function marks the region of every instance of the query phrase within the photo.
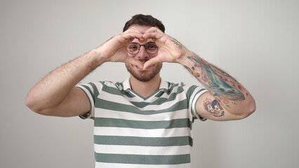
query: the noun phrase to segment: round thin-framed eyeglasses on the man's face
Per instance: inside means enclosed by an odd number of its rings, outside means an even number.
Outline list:
[[[145,51],[150,55],[156,54],[159,49],[159,47],[155,43],[146,43],[142,45],[145,46]],[[142,45],[138,43],[131,43],[126,49],[131,55],[136,55],[140,51]]]

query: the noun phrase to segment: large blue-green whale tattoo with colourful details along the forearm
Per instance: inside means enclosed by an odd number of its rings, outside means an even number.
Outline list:
[[[187,58],[194,62],[194,67],[192,67],[192,69],[187,67],[188,71],[192,72],[196,77],[201,76],[201,79],[204,80],[204,85],[215,92],[214,96],[232,101],[241,101],[245,99],[244,94],[237,90],[237,88],[241,88],[241,85],[239,85],[237,81],[230,77],[227,73],[218,68],[217,70],[215,70],[215,68],[213,69],[203,60],[199,60],[198,57],[188,56]],[[192,71],[196,68],[201,68],[200,75],[199,73]],[[227,84],[229,83],[229,79],[231,80],[230,83],[232,86]],[[240,90],[242,90],[242,88]]]

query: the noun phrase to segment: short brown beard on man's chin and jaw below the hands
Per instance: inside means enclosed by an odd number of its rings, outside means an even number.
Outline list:
[[[145,70],[145,71],[137,71],[133,67],[134,65],[126,63],[126,69],[128,70],[131,75],[136,78],[137,80],[140,80],[141,82],[147,82],[152,80],[154,76],[156,76],[161,68],[162,68],[162,63],[154,64],[151,67],[151,70]]]

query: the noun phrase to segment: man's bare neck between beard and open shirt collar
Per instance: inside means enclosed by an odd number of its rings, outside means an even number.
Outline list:
[[[154,78],[152,78],[152,80],[149,80],[147,82],[137,80],[133,76],[130,77],[131,89],[143,98],[147,98],[154,92],[159,90],[160,82],[161,78],[159,76],[159,73]]]

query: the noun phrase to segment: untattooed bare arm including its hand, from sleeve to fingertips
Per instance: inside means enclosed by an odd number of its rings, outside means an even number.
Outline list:
[[[142,39],[142,34],[137,29],[128,29],[55,69],[29,91],[25,104],[32,111],[47,116],[67,117],[88,113],[90,106],[86,94],[74,86],[104,62],[130,62],[142,67],[142,62],[128,57],[126,52],[126,45],[134,38]]]

